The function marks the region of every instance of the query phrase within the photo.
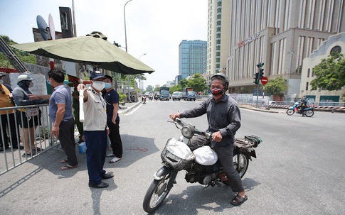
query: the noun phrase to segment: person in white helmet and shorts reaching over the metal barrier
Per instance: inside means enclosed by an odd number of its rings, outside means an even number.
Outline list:
[[[47,99],[31,100],[28,95],[33,94],[30,87],[33,87],[34,79],[26,74],[19,75],[17,78],[18,87],[14,88],[12,92],[16,106],[26,106],[34,104],[47,104]],[[35,144],[35,129],[41,125],[41,110],[38,111],[38,116],[26,116],[26,109],[17,111],[17,121],[21,128],[23,128],[23,136],[21,142],[24,143],[25,153],[23,157],[36,155],[41,148],[36,147]]]

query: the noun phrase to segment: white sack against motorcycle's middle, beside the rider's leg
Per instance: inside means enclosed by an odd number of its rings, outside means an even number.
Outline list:
[[[196,156],[195,161],[201,165],[214,165],[218,160],[217,153],[208,145],[193,150],[193,153]]]

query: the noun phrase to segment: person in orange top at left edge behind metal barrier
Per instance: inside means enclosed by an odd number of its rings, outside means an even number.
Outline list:
[[[5,72],[0,72],[0,108],[14,106],[14,101],[12,99],[12,89],[9,85],[4,84],[2,77],[6,75]],[[4,151],[9,148],[9,143],[11,143],[12,148],[23,149],[22,145],[18,143],[18,124],[14,121],[14,109],[9,109],[5,111],[0,111],[1,115],[1,137],[0,137],[0,151]],[[9,121],[7,120],[9,118]],[[7,127],[9,126],[9,128]],[[7,131],[9,131],[10,139],[8,138]],[[2,142],[4,138],[4,143]]]

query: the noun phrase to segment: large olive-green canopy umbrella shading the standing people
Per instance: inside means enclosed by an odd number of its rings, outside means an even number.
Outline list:
[[[94,32],[77,38],[46,40],[11,46],[35,55],[69,62],[85,63],[124,75],[154,72],[151,67]]]

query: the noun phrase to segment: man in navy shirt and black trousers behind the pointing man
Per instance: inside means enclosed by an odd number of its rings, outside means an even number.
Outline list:
[[[114,157],[110,163],[117,162],[122,158],[122,140],[120,136],[120,117],[119,111],[119,94],[112,88],[112,77],[105,75],[105,101],[107,103],[107,126],[109,127],[110,143],[112,153],[107,157]]]

